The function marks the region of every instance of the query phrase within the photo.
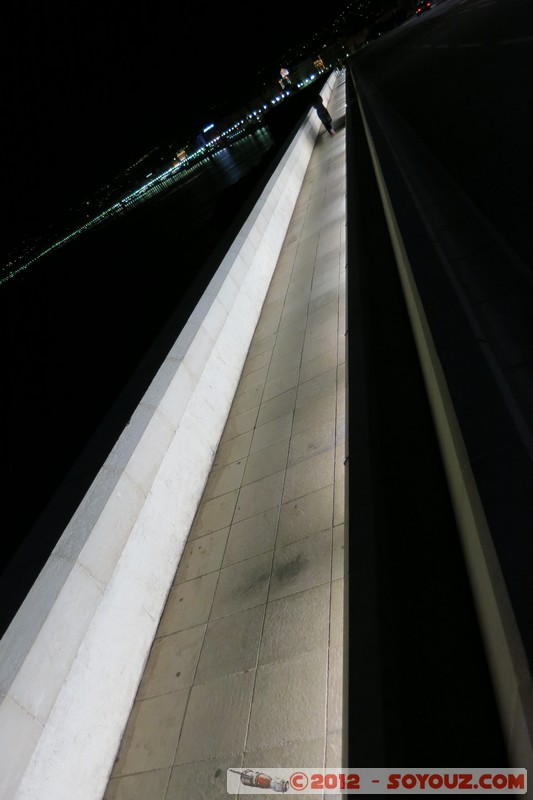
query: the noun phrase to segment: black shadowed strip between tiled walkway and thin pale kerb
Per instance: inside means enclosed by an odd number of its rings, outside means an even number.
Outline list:
[[[346,91],[343,762],[503,767],[478,620],[350,70]]]

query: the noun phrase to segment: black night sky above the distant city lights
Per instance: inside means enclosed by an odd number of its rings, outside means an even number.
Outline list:
[[[2,10],[0,255],[144,153],[277,79],[282,54],[329,22],[303,4],[124,0]],[[265,69],[266,68],[266,69]]]

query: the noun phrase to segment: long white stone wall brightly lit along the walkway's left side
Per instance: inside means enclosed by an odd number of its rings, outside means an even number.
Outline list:
[[[2,800],[105,791],[319,129],[311,110],[0,641]]]

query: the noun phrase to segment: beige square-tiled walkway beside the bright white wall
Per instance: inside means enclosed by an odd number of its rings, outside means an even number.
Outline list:
[[[328,108],[105,800],[341,766],[344,76]]]

